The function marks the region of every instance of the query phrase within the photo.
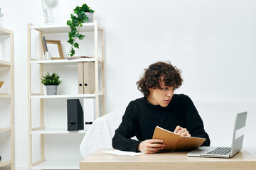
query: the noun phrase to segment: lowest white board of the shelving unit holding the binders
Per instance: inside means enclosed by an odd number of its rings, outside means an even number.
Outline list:
[[[68,160],[68,161],[45,161],[31,169],[79,169],[81,160]]]

